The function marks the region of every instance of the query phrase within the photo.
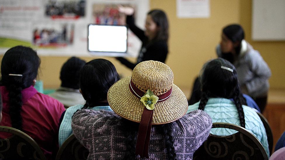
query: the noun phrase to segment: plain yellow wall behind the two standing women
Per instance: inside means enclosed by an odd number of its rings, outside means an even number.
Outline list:
[[[178,19],[175,0],[150,0],[150,8],[166,11],[170,21],[169,55],[166,60],[174,73],[174,83],[189,95],[194,78],[202,65],[216,58],[215,47],[220,42],[221,29],[229,23],[240,23],[246,40],[260,51],[272,70],[271,88],[285,89],[284,61],[285,42],[253,42],[251,40],[251,0],[211,0],[211,17],[207,19]],[[1,57],[0,57],[1,58]],[[44,88],[60,85],[59,72],[69,57],[41,57],[39,79]],[[100,57],[81,57],[86,61]],[[112,57],[110,60],[121,76],[131,75],[131,70]],[[129,58],[135,61],[135,58]]]

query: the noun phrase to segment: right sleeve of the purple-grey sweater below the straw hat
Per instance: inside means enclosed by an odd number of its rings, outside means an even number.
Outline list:
[[[185,115],[187,122],[185,122],[185,129],[188,132],[188,137],[194,137],[190,146],[193,150],[197,150],[205,140],[207,140],[210,129],[212,128],[211,117],[202,110],[194,110]],[[182,119],[184,120],[184,119]]]

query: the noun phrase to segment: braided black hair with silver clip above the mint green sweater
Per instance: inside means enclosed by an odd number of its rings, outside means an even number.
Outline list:
[[[221,66],[230,68],[233,72],[223,69]],[[244,99],[239,89],[237,71],[234,65],[223,58],[213,59],[203,66],[200,82],[202,94],[199,109],[204,110],[208,99],[211,97],[233,99],[238,110],[240,124],[245,128],[244,110],[242,108]]]

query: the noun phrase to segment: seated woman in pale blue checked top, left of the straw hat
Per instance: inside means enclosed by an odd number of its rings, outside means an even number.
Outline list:
[[[83,66],[79,86],[86,103],[71,106],[62,113],[58,133],[59,146],[72,134],[71,117],[75,111],[81,108],[112,111],[107,102],[107,92],[119,79],[115,66],[106,59],[93,59]]]

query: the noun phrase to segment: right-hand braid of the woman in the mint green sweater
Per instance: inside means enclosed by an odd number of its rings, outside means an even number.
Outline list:
[[[244,109],[242,108],[241,97],[242,95],[240,93],[239,87],[238,86],[234,87],[234,95],[233,95],[234,103],[239,113],[239,120],[240,120],[241,127],[245,128]]]

